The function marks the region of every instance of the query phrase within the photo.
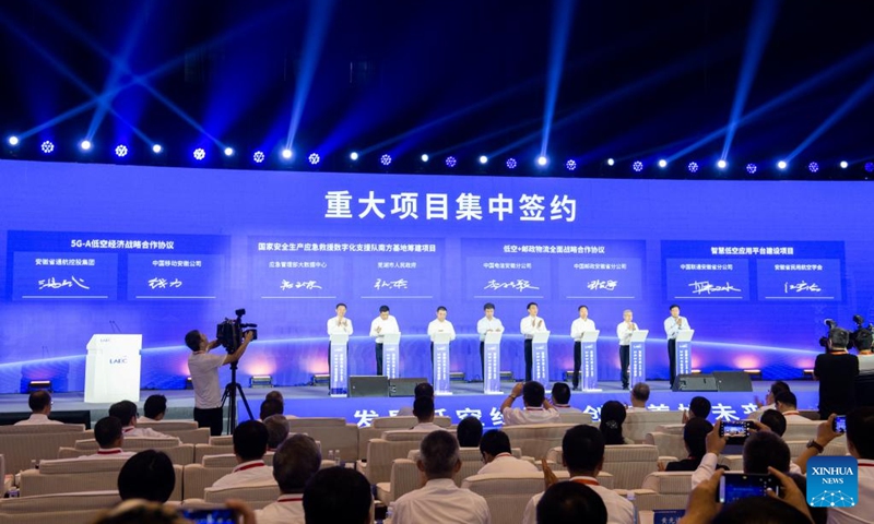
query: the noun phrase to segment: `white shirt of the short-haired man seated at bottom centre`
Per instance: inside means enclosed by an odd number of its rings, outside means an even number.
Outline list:
[[[488,503],[451,478],[436,478],[392,502],[392,524],[489,524]]]

